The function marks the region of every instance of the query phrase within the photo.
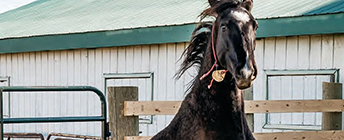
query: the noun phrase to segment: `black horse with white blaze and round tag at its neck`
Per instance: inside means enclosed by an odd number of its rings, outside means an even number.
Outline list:
[[[254,140],[248,128],[242,89],[256,78],[254,47],[257,22],[253,3],[208,0],[210,8],[184,51],[177,76],[193,65],[199,73],[172,122],[152,140]]]

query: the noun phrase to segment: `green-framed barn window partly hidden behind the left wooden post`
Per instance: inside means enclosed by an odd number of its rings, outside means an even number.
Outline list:
[[[153,101],[154,99],[154,73],[106,73],[105,94],[109,86],[137,86],[139,101]],[[139,116],[140,124],[153,124],[153,116]]]

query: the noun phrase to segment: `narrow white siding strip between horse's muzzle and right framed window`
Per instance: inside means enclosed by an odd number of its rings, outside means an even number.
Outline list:
[[[265,100],[265,74],[264,74],[264,42],[265,39],[257,40],[256,50],[254,51],[255,60],[258,68],[257,79],[253,83],[253,99]],[[265,122],[265,114],[254,114],[254,132],[262,132],[262,127]]]

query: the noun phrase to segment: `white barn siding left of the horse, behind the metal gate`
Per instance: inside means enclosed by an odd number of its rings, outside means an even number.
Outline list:
[[[187,43],[127,46],[100,49],[44,51],[0,55],[0,76],[10,76],[11,86],[91,85],[104,90],[104,73],[154,72],[154,100],[182,100],[187,78],[174,80]],[[120,80],[114,85],[137,85],[138,80]],[[149,91],[149,80],[140,82]],[[143,86],[141,86],[143,87]],[[11,117],[99,115],[100,102],[93,94],[11,94]],[[147,92],[150,94],[150,92]],[[148,95],[147,95],[148,96]],[[156,116],[153,124],[141,125],[144,135],[153,135],[173,116]],[[11,132],[66,132],[100,134],[100,123],[15,124]]]

